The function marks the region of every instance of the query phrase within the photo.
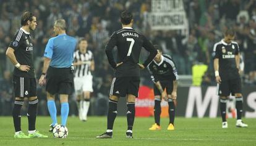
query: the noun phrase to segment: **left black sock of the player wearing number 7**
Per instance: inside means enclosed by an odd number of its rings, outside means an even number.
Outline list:
[[[117,101],[109,99],[108,101],[108,130],[113,130],[114,120],[117,115]]]

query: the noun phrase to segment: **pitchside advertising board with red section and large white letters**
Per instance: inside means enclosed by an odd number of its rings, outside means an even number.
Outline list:
[[[256,118],[256,87],[242,87],[244,96],[244,116],[245,118]],[[176,115],[192,117],[210,117],[220,116],[219,97],[216,95],[216,87],[178,87]],[[236,116],[236,101],[230,97],[227,105],[227,112],[230,117]],[[147,86],[141,86],[139,98],[136,99],[136,116],[153,116],[154,95],[153,89]],[[162,100],[161,116],[168,116],[168,103]]]

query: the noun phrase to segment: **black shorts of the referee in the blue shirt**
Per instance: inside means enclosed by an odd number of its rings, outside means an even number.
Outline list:
[[[70,68],[49,67],[46,75],[46,91],[50,94],[72,94],[73,73]]]

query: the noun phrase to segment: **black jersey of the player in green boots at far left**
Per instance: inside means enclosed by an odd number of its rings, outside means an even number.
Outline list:
[[[33,65],[33,44],[30,33],[20,28],[17,33],[15,33],[9,47],[14,49],[14,55],[20,65],[30,66],[30,71],[20,71],[18,68],[14,68],[14,75],[25,77],[25,78],[35,78],[34,65]]]

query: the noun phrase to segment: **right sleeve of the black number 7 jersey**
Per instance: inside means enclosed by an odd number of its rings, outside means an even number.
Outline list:
[[[145,60],[145,62],[143,63],[144,67],[147,67],[148,64],[155,58],[157,51],[155,49],[155,47],[153,46],[152,43],[150,43],[150,41],[148,41],[147,38],[145,38],[145,36],[143,36],[143,44],[142,46],[148,51],[150,52],[150,55],[148,55],[147,60]]]

